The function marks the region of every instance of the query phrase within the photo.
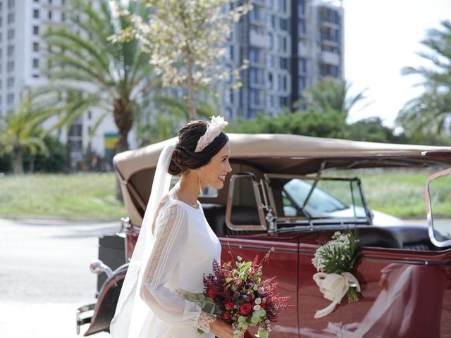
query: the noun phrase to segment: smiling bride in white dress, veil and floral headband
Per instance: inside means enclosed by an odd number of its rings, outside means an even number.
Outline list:
[[[233,337],[228,323],[183,299],[185,291],[203,292],[204,274],[221,260],[221,244],[197,197],[207,186],[221,189],[232,170],[226,125],[214,116],[211,123],[192,121],[161,152],[111,337]],[[171,175],[181,178],[168,191]]]

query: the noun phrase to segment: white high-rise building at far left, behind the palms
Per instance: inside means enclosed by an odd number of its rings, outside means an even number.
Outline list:
[[[47,46],[42,35],[49,26],[70,27],[69,6],[72,0],[0,0],[0,114],[18,108],[20,96],[27,89],[47,82],[45,69],[48,66],[46,54],[52,46]],[[92,6],[100,6],[100,1],[90,1]],[[83,34],[82,32],[78,32]],[[104,156],[108,137],[116,134],[117,128],[112,114],[97,127],[92,137],[97,116],[95,108],[77,118],[68,132],[58,133],[61,142],[68,143],[72,163],[82,161],[82,154],[88,149]],[[49,127],[56,118],[47,121]],[[130,134],[130,145],[135,146],[135,138]]]

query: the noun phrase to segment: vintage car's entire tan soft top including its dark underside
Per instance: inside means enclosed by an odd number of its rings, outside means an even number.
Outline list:
[[[419,146],[357,142],[344,139],[323,139],[290,134],[228,134],[231,146],[230,162],[233,171],[257,168],[261,173],[304,175],[319,168],[363,168],[373,166],[424,165],[450,163],[451,147]],[[154,168],[159,154],[168,142],[151,144],[140,149],[117,154],[113,163],[119,179],[125,209],[134,225],[141,225]],[[385,162],[390,159],[390,163]],[[217,201],[224,204],[228,182]]]

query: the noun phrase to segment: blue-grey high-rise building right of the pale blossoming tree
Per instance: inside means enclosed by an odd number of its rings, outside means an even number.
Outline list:
[[[230,37],[225,66],[242,59],[239,90],[225,89],[222,106],[227,118],[278,115],[302,99],[305,87],[321,77],[342,79],[343,9],[340,1],[254,0]]]

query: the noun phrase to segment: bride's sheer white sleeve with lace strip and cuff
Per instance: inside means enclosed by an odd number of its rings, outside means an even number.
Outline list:
[[[140,296],[161,319],[173,325],[206,328],[200,307],[166,287],[187,245],[187,211],[177,203],[161,210],[155,224],[155,242],[144,269]],[[216,318],[215,318],[216,319]],[[210,322],[211,323],[211,322]],[[208,328],[207,328],[208,325]]]

